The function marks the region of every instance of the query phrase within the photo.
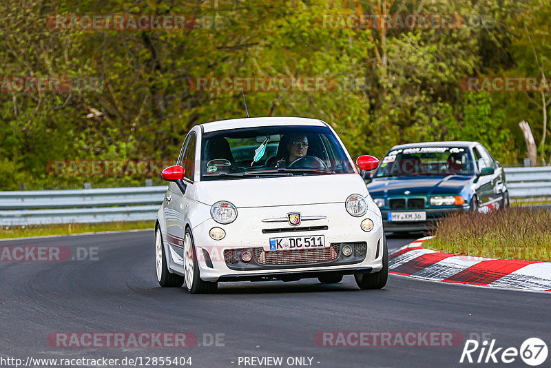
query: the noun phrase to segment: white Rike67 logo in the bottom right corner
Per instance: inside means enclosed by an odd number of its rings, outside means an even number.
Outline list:
[[[532,367],[543,364],[547,360],[548,347],[541,338],[526,339],[520,349],[516,347],[497,347],[496,340],[466,340],[459,362],[469,363],[505,363],[509,364],[521,358]]]

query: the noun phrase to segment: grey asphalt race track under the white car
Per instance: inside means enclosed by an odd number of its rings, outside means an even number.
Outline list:
[[[389,248],[411,240],[390,237]],[[345,276],[337,285],[314,279],[225,283],[218,294],[191,295],[158,286],[152,231],[0,242],[0,247],[14,245],[97,254],[64,262],[0,262],[3,358],[191,356],[191,367],[250,367],[239,365],[239,357],[282,356],[282,367],[288,367],[288,357],[304,356],[313,358],[314,367],[457,367],[464,346],[327,347],[315,343],[322,331],[490,334],[497,347],[517,349],[526,338],[539,337],[551,347],[548,294],[391,275],[386,288],[376,291],[360,291],[353,277]],[[198,336],[201,346],[92,348],[48,342],[63,331],[186,331]],[[223,334],[218,335],[223,346],[204,346],[215,334]],[[508,366],[528,367],[520,358]]]

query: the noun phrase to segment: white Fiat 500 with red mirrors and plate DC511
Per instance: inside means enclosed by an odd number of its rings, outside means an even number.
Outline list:
[[[335,131],[323,121],[267,117],[196,125],[156,221],[163,287],[215,292],[219,281],[339,283],[361,289],[388,278],[379,207]]]

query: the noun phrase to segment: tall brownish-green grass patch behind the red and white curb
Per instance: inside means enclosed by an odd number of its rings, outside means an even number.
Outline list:
[[[423,246],[438,252],[497,259],[551,261],[551,210],[512,207],[455,214],[439,222]]]

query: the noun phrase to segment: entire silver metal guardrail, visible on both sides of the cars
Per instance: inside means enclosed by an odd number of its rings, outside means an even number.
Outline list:
[[[506,167],[511,198],[551,197],[551,167]],[[154,220],[167,187],[0,192],[0,226]]]

